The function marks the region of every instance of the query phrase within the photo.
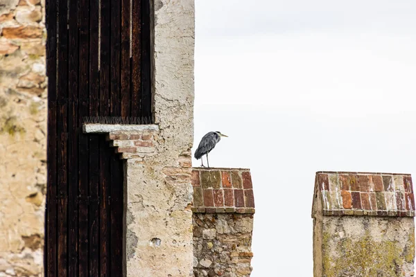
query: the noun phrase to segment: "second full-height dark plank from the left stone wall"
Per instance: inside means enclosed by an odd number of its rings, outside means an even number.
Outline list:
[[[67,0],[58,3],[58,276],[67,277],[67,100],[68,29]]]

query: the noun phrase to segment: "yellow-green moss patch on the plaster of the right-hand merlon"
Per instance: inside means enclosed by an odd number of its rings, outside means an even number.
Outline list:
[[[414,239],[409,240],[412,241],[409,244],[414,247]],[[375,242],[367,232],[356,241],[351,238],[341,239],[337,242],[338,253],[333,253],[331,241],[331,234],[324,233],[323,276],[401,276],[404,249],[394,241]],[[409,258],[413,259],[411,253],[413,251],[409,251]]]

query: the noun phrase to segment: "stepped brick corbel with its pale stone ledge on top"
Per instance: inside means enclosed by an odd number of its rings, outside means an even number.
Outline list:
[[[106,134],[110,146],[120,154],[120,159],[141,162],[155,154],[155,143],[159,135],[157,125],[85,124],[85,134]]]

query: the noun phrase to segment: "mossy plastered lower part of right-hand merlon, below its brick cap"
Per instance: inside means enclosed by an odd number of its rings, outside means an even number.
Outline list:
[[[323,217],[322,276],[413,276],[412,217]]]

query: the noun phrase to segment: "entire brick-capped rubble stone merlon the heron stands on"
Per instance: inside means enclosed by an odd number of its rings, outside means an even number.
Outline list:
[[[193,168],[193,274],[250,276],[254,216],[247,169]]]

